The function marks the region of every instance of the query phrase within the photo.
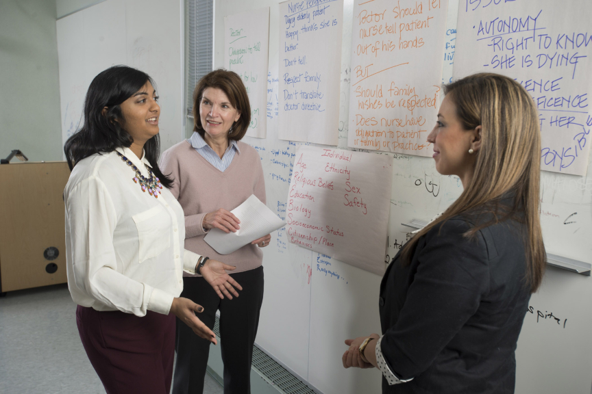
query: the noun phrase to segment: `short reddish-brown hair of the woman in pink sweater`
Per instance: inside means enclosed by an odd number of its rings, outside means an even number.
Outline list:
[[[251,104],[249,103],[249,95],[243,79],[234,71],[219,68],[204,75],[197,82],[193,91],[193,131],[197,131],[201,137],[204,137],[206,132],[204,127],[201,126],[199,103],[204,95],[204,90],[207,88],[222,90],[230,100],[230,104],[240,113],[240,118],[232,124],[232,133],[228,135],[229,140],[239,141],[245,136],[251,123]]]

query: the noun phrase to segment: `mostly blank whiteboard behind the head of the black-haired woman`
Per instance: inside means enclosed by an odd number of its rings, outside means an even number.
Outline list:
[[[182,0],[108,0],[56,21],[62,142],[77,131],[93,78],[110,66],[143,70],[160,96],[160,149],[184,137]]]

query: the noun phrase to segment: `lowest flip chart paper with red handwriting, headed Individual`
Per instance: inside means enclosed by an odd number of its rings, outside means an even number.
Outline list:
[[[392,160],[299,146],[286,203],[288,241],[384,274]]]

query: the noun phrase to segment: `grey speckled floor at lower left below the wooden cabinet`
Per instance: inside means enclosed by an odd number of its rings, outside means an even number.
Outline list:
[[[0,394],[105,393],[76,327],[66,285],[0,298]],[[206,375],[204,394],[222,387]]]

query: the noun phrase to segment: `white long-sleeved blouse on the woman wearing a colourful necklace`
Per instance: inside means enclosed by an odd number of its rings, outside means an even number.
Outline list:
[[[117,150],[148,177],[145,157]],[[199,254],[183,247],[184,213],[169,189],[154,198],[134,176],[115,152],[72,170],[64,189],[68,287],[74,302],[97,311],[168,315]]]

